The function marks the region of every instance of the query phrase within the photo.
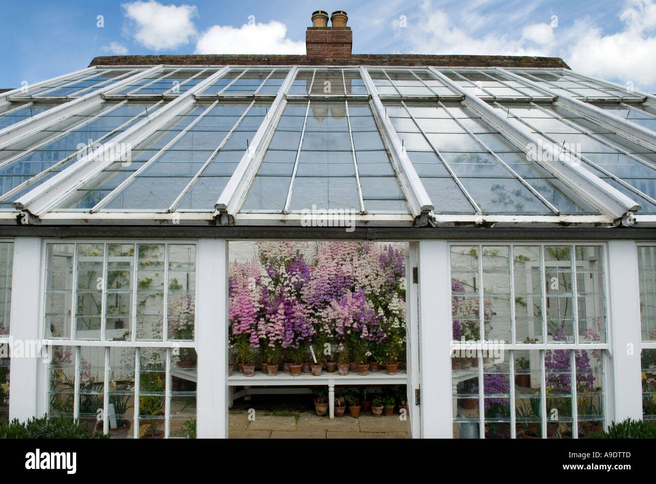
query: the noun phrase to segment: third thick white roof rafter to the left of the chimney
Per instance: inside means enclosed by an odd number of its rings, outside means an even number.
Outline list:
[[[120,87],[141,79],[142,77],[145,77],[150,73],[159,70],[160,68],[161,66],[154,66],[154,68],[141,71],[131,77],[125,77],[117,83],[112,83],[106,87],[103,87],[102,89],[98,89],[94,92],[89,92],[89,94],[85,94],[84,96],[75,98],[71,101],[62,102],[60,106],[42,111],[33,117],[24,119],[23,121],[18,121],[18,123],[14,123],[13,125],[9,125],[4,129],[0,129],[0,150],[7,148],[7,146],[10,146],[15,142],[24,140],[37,132],[41,132],[44,129],[54,126],[64,119],[70,117],[71,115],[81,113],[82,111],[87,110],[92,106],[100,104],[103,102],[102,96],[106,92],[112,89],[119,89]]]

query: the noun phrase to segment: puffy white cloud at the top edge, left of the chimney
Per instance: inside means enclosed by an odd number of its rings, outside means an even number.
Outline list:
[[[150,0],[123,3],[121,7],[131,21],[127,31],[148,49],[177,49],[197,35],[192,22],[192,18],[198,15],[195,5],[176,7]]]

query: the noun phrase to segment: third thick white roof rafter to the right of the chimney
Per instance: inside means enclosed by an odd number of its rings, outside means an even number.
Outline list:
[[[515,79],[516,81],[526,83],[534,89],[542,89],[543,91],[552,94],[552,96],[556,96],[554,106],[560,106],[570,112],[573,111],[584,118],[592,118],[595,123],[604,126],[609,129],[609,131],[617,132],[617,134],[621,134],[621,136],[624,136],[628,140],[640,144],[641,146],[646,146],[650,150],[656,150],[656,136],[651,130],[613,114],[611,111],[598,108],[598,106],[594,106],[594,104],[590,104],[589,102],[583,102],[577,98],[569,96],[558,96],[554,92],[541,88],[537,83],[517,75],[512,71],[504,70],[502,68],[497,68],[496,70],[512,77],[512,79]],[[645,144],[645,142],[647,144]]]

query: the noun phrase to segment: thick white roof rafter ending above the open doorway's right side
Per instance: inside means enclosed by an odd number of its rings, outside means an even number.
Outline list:
[[[417,171],[415,171],[415,167],[413,167],[403,147],[403,143],[392,125],[392,121],[387,116],[373,80],[364,67],[360,68],[360,76],[371,96],[369,106],[371,106],[374,119],[377,121],[382,141],[388,147],[392,168],[396,172],[401,190],[403,190],[405,199],[410,207],[410,212],[414,217],[428,214],[428,212],[434,209],[433,202],[428,196],[428,192],[426,192],[426,188],[424,188]]]

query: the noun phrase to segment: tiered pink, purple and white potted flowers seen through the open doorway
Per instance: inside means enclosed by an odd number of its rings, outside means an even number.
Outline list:
[[[300,364],[396,363],[405,345],[402,245],[258,242],[257,258],[229,270],[230,342],[237,359]]]

